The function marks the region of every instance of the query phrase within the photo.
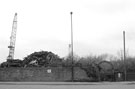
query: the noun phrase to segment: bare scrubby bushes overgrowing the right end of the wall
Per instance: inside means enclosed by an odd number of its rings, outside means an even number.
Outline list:
[[[103,54],[99,56],[78,57],[74,56],[74,66],[86,71],[93,80],[114,80],[114,74],[124,73],[123,57],[114,57]],[[71,65],[71,57],[68,56],[65,64]],[[125,61],[127,72],[135,72],[135,57],[127,57]]]

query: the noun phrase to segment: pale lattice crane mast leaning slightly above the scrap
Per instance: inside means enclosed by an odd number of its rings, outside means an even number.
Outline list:
[[[12,32],[11,32],[11,36],[10,36],[10,45],[8,46],[9,55],[7,57],[7,60],[14,59],[16,31],[17,31],[17,13],[15,13],[14,19],[13,19]]]

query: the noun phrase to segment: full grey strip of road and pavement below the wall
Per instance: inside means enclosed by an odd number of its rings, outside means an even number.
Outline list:
[[[135,82],[0,82],[0,89],[135,89]]]

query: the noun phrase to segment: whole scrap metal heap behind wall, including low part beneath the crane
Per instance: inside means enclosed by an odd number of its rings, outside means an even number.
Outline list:
[[[1,64],[1,67],[47,67],[62,65],[62,59],[52,52],[40,51],[34,52],[24,60],[7,60]]]

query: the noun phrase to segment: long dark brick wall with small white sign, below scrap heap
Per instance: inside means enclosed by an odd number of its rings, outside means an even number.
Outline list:
[[[85,71],[74,68],[75,80],[88,79]],[[0,68],[0,81],[70,81],[70,67]]]

